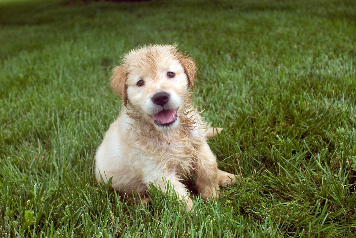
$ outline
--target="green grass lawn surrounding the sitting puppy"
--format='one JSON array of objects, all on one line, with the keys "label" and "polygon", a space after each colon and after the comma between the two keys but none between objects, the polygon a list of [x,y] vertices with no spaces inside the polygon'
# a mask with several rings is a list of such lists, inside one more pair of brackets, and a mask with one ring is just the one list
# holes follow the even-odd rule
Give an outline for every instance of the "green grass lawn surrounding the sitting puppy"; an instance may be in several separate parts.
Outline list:
[{"label": "green grass lawn surrounding the sitting puppy", "polygon": [[[0,5],[1,237],[342,237],[356,231],[356,2],[9,1]],[[96,183],[118,115],[111,68],[145,43],[197,62],[194,104],[240,175],[197,216]]]}]

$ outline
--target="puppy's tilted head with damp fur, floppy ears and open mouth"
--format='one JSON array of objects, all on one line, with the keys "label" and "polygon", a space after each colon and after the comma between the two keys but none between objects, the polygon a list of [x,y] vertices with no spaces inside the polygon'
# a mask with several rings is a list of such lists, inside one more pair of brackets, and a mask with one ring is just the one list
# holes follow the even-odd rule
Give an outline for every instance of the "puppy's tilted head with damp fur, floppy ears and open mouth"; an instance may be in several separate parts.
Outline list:
[{"label": "puppy's tilted head with damp fur, floppy ears and open mouth", "polygon": [[113,71],[111,86],[125,106],[159,131],[179,124],[197,74],[192,59],[175,46],[153,45],[130,51]]}]

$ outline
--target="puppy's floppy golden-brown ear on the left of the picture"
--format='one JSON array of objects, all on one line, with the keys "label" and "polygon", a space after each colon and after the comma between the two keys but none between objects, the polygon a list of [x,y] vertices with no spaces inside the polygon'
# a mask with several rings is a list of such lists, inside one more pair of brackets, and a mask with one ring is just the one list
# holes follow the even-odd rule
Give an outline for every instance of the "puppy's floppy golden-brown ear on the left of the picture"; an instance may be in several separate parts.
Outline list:
[{"label": "puppy's floppy golden-brown ear on the left of the picture", "polygon": [[126,80],[127,76],[129,73],[126,71],[126,68],[121,66],[116,66],[112,72],[114,74],[111,76],[111,88],[114,89],[116,94],[118,94],[121,98],[122,101],[124,102],[124,105],[127,105],[127,95],[126,95]]}]

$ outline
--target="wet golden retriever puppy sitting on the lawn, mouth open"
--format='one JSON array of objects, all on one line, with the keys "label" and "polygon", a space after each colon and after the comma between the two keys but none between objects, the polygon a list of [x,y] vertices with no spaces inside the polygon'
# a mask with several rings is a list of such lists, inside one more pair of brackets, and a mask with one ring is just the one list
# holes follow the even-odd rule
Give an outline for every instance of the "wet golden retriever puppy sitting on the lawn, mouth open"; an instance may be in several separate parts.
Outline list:
[{"label": "wet golden retriever puppy sitting on the lawn, mouth open", "polygon": [[[218,169],[206,142],[206,124],[191,106],[197,74],[192,59],[175,46],[145,46],[127,53],[113,72],[111,86],[125,107],[96,152],[98,181],[100,174],[105,183],[112,177],[121,195],[133,192],[142,198],[150,182],[166,191],[169,181],[188,210],[192,200],[182,179],[190,173],[204,200],[236,181]],[[216,131],[208,133],[212,137]]]}]

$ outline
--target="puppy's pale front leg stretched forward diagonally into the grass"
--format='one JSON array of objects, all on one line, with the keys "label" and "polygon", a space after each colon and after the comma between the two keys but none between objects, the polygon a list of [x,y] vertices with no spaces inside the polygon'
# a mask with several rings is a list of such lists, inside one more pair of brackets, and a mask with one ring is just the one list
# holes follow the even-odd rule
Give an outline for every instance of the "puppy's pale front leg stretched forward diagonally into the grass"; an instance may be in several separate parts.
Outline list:
[{"label": "puppy's pale front leg stretched forward diagonally into the grass", "polygon": [[167,182],[169,182],[172,189],[174,189],[176,196],[178,197],[178,200],[185,202],[188,211],[192,210],[193,202],[189,198],[188,190],[184,186],[184,184],[180,182],[176,174],[163,174],[163,173],[161,174],[156,172],[154,174],[147,174],[145,176],[145,179],[147,182],[151,182],[156,187],[159,187],[162,190],[162,192],[167,191]]}]

